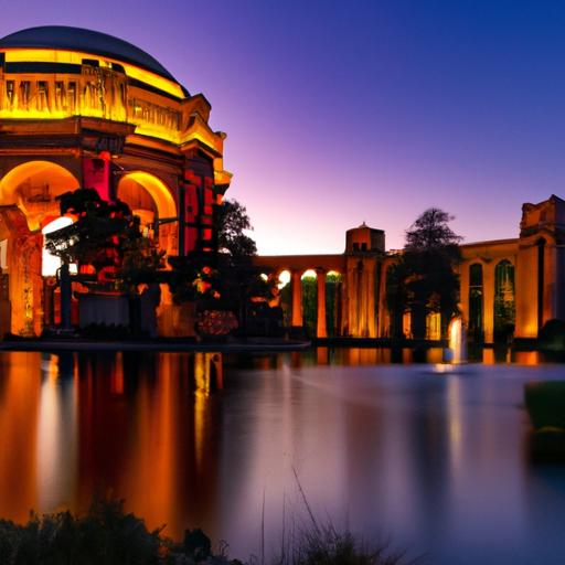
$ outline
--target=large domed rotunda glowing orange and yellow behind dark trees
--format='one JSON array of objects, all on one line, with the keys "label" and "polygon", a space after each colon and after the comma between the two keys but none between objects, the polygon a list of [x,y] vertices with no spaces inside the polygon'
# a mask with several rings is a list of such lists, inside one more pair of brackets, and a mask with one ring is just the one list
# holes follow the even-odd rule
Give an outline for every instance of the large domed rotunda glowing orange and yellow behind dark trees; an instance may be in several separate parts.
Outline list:
[{"label": "large domed rotunda glowing orange and yellow behind dark trees", "polygon": [[[125,201],[168,256],[214,247],[214,205],[231,174],[210,110],[202,94],[110,35],[43,26],[0,40],[1,334],[39,334],[46,321],[42,231],[66,191]],[[163,334],[171,308],[163,289]]]}]

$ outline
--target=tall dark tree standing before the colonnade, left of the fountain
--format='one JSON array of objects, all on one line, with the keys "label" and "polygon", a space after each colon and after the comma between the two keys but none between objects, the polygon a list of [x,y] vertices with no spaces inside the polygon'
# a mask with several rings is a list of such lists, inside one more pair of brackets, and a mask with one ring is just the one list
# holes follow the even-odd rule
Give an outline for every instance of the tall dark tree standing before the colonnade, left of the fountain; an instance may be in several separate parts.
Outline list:
[{"label": "tall dark tree standing before the colonnade, left of the fountain", "polygon": [[387,301],[396,321],[396,337],[402,331],[398,319],[403,311],[412,316],[415,339],[426,337],[426,316],[441,315],[441,334],[458,313],[459,277],[455,266],[460,260],[458,236],[448,225],[447,212],[426,210],[406,231],[406,244],[396,265],[391,267]]}]

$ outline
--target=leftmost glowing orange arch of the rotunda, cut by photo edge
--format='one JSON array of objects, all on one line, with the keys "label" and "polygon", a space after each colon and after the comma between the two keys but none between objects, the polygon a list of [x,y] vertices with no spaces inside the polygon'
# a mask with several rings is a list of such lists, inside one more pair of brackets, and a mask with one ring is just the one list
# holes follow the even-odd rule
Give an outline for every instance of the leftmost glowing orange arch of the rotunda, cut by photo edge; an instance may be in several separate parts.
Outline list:
[{"label": "leftmost glowing orange arch of the rotunda, cut by photo edge", "polygon": [[76,177],[53,161],[28,161],[12,168],[0,180],[0,205],[17,205],[31,231],[46,216],[58,216],[55,196],[79,188]]}]

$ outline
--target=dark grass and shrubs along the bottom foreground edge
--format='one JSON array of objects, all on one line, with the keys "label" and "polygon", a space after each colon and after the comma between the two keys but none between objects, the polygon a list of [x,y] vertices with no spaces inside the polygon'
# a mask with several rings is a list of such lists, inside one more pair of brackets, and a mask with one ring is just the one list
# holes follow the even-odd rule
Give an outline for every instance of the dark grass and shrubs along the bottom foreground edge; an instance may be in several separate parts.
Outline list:
[{"label": "dark grass and shrubs along the bottom foreground edge", "polygon": [[[188,530],[182,542],[149,531],[124,501],[95,501],[82,516],[71,512],[32,514],[24,525],[0,520],[2,565],[242,565],[224,552],[214,554],[201,530]],[[302,531],[285,541],[273,565],[408,565],[388,544],[366,548],[333,526]]]}]

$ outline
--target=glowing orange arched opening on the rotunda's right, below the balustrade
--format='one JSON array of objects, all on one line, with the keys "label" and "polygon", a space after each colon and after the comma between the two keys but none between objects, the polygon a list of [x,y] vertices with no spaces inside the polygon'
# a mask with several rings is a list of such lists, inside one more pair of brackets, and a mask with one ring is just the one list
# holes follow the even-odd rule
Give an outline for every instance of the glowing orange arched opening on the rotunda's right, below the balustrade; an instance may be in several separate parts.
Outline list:
[{"label": "glowing orange arched opening on the rotunda's right, below the balustrade", "polygon": [[147,236],[156,237],[168,255],[177,254],[177,204],[163,181],[148,172],[128,172],[121,177],[116,195],[139,216]]}]

